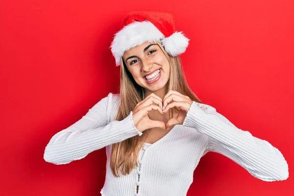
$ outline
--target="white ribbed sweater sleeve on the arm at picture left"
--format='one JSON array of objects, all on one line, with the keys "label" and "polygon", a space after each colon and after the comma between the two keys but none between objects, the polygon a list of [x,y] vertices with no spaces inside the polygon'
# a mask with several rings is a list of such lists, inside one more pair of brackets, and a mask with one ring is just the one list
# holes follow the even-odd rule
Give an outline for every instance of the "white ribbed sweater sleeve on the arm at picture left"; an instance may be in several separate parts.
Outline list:
[{"label": "white ribbed sweater sleeve on the arm at picture left", "polygon": [[45,148],[44,160],[56,165],[67,164],[94,150],[141,136],[143,133],[134,125],[132,111],[122,121],[107,123],[107,104],[111,95],[102,98],[79,121],[53,135]]}]

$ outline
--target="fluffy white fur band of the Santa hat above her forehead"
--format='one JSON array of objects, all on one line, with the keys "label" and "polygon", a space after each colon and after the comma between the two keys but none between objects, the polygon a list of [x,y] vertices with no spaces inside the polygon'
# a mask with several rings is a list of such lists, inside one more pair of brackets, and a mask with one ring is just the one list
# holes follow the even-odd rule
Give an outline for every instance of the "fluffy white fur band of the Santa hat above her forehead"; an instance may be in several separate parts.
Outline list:
[{"label": "fluffy white fur band of the Santa hat above her forehead", "polygon": [[164,37],[163,33],[149,21],[135,21],[124,26],[115,34],[110,46],[116,66],[121,65],[121,57],[125,51],[145,42],[160,41]]}]

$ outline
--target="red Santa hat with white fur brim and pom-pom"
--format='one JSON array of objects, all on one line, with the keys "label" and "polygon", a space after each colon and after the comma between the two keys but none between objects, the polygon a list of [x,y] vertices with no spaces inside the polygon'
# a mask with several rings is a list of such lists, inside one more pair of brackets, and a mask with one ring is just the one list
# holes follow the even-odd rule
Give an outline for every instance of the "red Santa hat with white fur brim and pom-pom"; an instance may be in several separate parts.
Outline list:
[{"label": "red Santa hat with white fur brim and pom-pom", "polygon": [[128,49],[155,41],[161,42],[171,56],[183,53],[189,44],[189,39],[182,31],[175,31],[171,14],[151,11],[128,13],[123,19],[121,30],[115,34],[110,46],[116,66],[121,65],[121,57]]}]

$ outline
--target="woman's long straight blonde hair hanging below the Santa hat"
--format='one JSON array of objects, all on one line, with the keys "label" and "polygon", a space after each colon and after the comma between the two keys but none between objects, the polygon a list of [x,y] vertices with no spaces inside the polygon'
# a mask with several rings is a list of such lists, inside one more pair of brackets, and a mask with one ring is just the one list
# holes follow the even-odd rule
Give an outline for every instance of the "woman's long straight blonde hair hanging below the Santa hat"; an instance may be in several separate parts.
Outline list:
[{"label": "woman's long straight blonde hair hanging below the Santa hat", "polygon": [[[167,83],[168,91],[177,91],[182,95],[188,96],[191,100],[202,103],[187,83],[182,70],[180,57],[170,56],[160,42],[156,42],[156,44],[162,49],[170,63],[170,77]],[[120,106],[115,120],[122,121],[130,114],[130,111],[133,111],[135,106],[145,98],[145,88],[136,83],[123,62],[123,58],[121,58]],[[169,110],[170,119],[172,118],[174,111],[178,112],[179,109],[173,107]],[[147,135],[144,134],[144,132],[145,131],[143,131],[141,136],[137,135],[122,142],[112,144],[110,168],[114,176],[120,177],[120,172],[123,175],[129,174],[136,166],[138,166],[138,155],[147,139]]]}]

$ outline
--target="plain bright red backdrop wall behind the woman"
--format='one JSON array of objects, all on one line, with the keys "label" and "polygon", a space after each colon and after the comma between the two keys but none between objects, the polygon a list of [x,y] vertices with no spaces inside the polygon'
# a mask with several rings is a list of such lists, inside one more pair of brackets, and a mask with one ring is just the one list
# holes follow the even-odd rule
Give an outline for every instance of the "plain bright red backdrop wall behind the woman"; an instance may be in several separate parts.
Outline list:
[{"label": "plain bright red backdrop wall behind the woman", "polygon": [[134,10],[172,13],[191,39],[182,60],[196,95],[289,164],[286,181],[265,182],[208,153],[188,196],[294,195],[292,0],[1,0],[0,194],[99,195],[105,148],[66,165],[45,162],[43,153],[55,133],[118,92],[109,46]]}]

